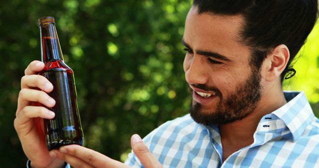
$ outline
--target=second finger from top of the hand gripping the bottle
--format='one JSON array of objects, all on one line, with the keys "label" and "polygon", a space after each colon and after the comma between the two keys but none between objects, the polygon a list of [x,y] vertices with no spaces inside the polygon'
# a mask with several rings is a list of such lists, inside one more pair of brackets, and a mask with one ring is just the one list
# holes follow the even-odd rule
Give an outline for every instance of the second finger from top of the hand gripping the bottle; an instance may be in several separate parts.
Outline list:
[{"label": "second finger from top of the hand gripping the bottle", "polygon": [[41,75],[26,75],[21,78],[21,88],[30,87],[38,87],[46,92],[53,90],[53,85]]}]

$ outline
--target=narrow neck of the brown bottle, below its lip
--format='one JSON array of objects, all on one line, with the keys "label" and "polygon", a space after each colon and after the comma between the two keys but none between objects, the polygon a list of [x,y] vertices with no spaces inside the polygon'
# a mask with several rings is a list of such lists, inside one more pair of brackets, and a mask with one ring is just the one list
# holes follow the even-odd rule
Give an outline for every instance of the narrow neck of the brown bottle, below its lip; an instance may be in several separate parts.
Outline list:
[{"label": "narrow neck of the brown bottle, below its lip", "polygon": [[63,61],[63,55],[54,22],[40,24],[40,37],[42,62]]}]

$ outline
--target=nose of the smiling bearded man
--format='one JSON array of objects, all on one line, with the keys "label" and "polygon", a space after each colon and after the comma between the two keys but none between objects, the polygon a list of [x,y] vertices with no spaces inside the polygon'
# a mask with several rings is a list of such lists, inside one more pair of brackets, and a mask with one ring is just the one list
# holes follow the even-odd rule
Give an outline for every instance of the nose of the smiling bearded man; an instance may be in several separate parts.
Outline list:
[{"label": "nose of the smiling bearded man", "polygon": [[185,79],[188,84],[206,84],[208,82],[209,68],[205,66],[206,59],[202,57],[194,55],[191,59],[184,60]]}]

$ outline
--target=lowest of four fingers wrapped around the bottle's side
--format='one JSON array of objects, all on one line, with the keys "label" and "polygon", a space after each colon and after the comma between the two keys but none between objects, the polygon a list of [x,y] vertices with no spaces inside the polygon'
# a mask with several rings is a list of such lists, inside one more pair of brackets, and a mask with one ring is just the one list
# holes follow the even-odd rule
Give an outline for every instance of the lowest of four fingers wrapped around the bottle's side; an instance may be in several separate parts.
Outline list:
[{"label": "lowest of four fingers wrapped around the bottle's side", "polygon": [[16,116],[15,124],[23,125],[30,118],[40,117],[46,119],[54,118],[55,113],[42,106],[25,106]]}]

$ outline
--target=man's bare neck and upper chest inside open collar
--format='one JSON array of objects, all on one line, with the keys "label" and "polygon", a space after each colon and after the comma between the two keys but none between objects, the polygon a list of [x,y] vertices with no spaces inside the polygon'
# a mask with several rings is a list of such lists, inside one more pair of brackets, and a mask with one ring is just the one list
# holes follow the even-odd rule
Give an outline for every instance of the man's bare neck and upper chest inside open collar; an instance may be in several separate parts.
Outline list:
[{"label": "man's bare neck and upper chest inside open collar", "polygon": [[[223,149],[232,149],[233,151],[230,153],[232,154],[252,144],[254,142],[253,135],[261,118],[286,103],[281,84],[269,84],[269,86],[266,86],[263,89],[262,97],[257,107],[251,114],[242,120],[219,125]],[[225,159],[223,157],[223,160]]]}]

